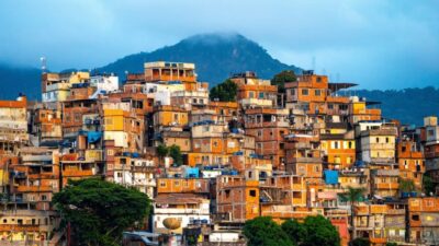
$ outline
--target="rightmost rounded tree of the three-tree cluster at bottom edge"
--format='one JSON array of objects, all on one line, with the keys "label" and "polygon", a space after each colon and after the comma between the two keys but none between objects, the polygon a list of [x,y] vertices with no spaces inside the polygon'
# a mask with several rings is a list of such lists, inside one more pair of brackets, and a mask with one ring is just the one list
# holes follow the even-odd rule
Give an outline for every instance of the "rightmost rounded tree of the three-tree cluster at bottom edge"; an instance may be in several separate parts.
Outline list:
[{"label": "rightmost rounded tree of the three-tree cluster at bottom edge", "polygon": [[304,246],[340,246],[340,235],[336,226],[322,215],[307,216],[303,223],[306,236],[302,242]]}]

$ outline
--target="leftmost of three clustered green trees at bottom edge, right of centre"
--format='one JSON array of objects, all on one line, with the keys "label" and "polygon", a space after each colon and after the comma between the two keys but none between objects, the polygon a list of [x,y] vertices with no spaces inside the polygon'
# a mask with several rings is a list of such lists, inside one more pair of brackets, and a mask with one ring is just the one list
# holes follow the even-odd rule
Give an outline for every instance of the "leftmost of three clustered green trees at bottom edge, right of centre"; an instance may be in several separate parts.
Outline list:
[{"label": "leftmost of three clustered green trees at bottom edge, right of centre", "polygon": [[270,216],[258,216],[244,225],[248,246],[292,246],[285,232]]}]

